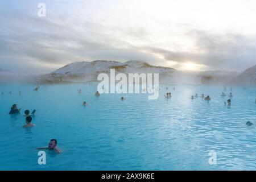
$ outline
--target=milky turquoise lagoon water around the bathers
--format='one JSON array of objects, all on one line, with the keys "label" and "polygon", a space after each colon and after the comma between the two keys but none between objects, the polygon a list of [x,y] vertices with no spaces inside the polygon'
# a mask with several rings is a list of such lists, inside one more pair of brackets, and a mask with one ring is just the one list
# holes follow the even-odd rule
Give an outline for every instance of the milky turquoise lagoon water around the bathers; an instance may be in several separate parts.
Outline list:
[{"label": "milky turquoise lagoon water around the bathers", "polygon": [[[175,85],[168,100],[166,85],[160,86],[158,100],[147,94],[96,98],[95,83],[40,85],[38,92],[35,86],[0,85],[1,170],[256,169],[255,87],[233,87],[229,107],[221,86]],[[212,100],[192,101],[196,93]],[[21,114],[8,114],[13,104],[22,107]],[[22,128],[26,109],[36,109],[32,129]],[[246,126],[247,121],[254,125]],[[39,165],[36,147],[52,138],[62,153],[46,151],[47,164]],[[209,164],[210,151],[216,152],[216,164]]]}]

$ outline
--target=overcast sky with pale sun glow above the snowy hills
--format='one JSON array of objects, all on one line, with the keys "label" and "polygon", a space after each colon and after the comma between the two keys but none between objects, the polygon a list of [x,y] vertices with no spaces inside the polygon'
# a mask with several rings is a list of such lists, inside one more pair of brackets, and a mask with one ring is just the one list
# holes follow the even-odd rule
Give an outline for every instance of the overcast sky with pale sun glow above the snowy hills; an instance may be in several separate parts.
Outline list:
[{"label": "overcast sky with pale sun glow above the snowy hills", "polygon": [[255,20],[255,0],[5,0],[0,68],[48,73],[74,61],[144,60],[243,71],[256,64]]}]

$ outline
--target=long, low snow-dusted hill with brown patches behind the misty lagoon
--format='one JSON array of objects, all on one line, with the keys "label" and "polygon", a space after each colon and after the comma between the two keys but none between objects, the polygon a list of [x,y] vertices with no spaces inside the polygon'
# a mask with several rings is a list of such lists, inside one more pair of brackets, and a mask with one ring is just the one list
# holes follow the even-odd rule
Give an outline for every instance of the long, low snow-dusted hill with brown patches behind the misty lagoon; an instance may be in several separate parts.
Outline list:
[{"label": "long, low snow-dusted hill with brown patches behind the misty lagoon", "polygon": [[110,73],[110,69],[115,69],[116,73],[173,73],[176,69],[166,67],[156,67],[144,61],[126,61],[119,63],[117,61],[96,60],[92,62],[75,62],[57,69],[47,75],[39,77],[42,81],[49,82],[84,82],[97,81],[100,73]]}]

